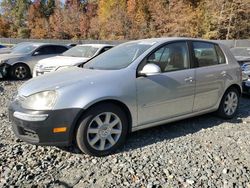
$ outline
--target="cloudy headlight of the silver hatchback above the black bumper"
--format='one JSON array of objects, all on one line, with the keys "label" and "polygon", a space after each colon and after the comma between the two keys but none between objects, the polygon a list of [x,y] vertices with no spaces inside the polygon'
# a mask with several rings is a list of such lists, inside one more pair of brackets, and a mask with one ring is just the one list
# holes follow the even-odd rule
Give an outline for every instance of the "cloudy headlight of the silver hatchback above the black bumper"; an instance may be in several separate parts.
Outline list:
[{"label": "cloudy headlight of the silver hatchback above the black bumper", "polygon": [[25,109],[31,110],[51,110],[56,103],[57,93],[55,91],[43,91],[28,96],[21,101]]}]

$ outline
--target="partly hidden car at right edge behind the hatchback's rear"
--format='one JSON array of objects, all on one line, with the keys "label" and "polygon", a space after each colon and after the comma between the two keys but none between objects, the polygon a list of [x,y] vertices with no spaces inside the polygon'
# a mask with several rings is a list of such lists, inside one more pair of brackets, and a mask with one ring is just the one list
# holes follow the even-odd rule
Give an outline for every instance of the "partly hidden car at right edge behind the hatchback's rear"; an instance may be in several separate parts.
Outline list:
[{"label": "partly hidden car at right edge behind the hatchback's rear", "polygon": [[242,69],[242,88],[244,93],[250,93],[250,47],[230,49]]}]

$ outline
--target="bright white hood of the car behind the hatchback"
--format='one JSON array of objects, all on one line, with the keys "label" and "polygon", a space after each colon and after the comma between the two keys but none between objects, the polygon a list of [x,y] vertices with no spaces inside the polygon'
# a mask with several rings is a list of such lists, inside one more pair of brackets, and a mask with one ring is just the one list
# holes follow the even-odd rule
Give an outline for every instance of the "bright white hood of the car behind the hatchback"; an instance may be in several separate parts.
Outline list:
[{"label": "bright white hood of the car behind the hatchback", "polygon": [[51,58],[42,59],[38,62],[38,64],[43,65],[43,67],[48,67],[48,66],[60,67],[60,66],[69,66],[69,65],[74,66],[74,65],[78,65],[80,63],[84,63],[87,60],[89,60],[89,58],[55,56],[55,57],[51,57]]}]

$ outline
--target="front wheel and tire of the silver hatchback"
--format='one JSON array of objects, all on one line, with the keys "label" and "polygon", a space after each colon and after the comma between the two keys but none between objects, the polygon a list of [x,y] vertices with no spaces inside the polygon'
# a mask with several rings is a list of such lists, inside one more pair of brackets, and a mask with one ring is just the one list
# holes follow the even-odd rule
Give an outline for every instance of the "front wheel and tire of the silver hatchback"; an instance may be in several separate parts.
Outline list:
[{"label": "front wheel and tire of the silver hatchback", "polygon": [[76,143],[86,154],[106,156],[125,142],[127,133],[125,113],[114,104],[104,103],[94,106],[80,118]]}]

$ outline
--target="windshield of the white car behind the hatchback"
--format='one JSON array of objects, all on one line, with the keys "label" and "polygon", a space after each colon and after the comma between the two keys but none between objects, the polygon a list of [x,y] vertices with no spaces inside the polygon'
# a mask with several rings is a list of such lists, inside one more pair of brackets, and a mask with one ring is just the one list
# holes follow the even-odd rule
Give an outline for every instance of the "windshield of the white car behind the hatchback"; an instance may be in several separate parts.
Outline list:
[{"label": "windshield of the white car behind the hatchback", "polygon": [[91,58],[95,55],[98,48],[93,46],[75,46],[66,52],[64,52],[63,56],[71,56],[71,57],[86,57]]}]

